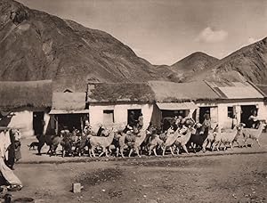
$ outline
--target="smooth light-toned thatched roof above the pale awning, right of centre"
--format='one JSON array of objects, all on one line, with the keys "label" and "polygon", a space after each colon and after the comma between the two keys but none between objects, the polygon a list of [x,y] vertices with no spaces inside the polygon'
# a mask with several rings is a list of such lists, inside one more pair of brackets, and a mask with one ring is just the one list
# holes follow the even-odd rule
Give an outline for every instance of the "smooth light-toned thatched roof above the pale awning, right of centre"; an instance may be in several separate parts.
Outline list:
[{"label": "smooth light-toned thatched roof above the pale awning, right of centre", "polygon": [[205,82],[173,83],[150,81],[156,102],[192,102],[217,100],[219,96]]}]

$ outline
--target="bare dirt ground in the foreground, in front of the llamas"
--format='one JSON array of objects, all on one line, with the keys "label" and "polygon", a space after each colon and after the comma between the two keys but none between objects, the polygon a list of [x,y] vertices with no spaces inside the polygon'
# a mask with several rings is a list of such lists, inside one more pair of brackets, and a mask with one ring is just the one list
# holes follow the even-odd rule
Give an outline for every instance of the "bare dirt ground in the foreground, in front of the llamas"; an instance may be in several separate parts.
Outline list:
[{"label": "bare dirt ground in the foreground, in front of the llamas", "polygon": [[[266,202],[267,155],[20,164],[14,198],[36,202]],[[82,183],[79,194],[71,183]]]}]

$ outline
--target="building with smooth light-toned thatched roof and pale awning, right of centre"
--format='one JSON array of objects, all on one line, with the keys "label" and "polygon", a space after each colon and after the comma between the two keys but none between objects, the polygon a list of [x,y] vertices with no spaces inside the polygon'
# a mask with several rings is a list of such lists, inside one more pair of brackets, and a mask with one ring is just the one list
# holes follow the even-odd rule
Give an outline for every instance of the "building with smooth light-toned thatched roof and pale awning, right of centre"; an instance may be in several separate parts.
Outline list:
[{"label": "building with smooth light-toned thatched roof and pale awning, right of centre", "polygon": [[[199,106],[207,107],[220,97],[217,93],[206,85],[204,81],[190,83],[173,83],[166,81],[150,81],[153,92],[155,93],[154,115],[158,118],[155,124],[160,124],[162,118],[174,117],[191,117],[200,121],[206,110],[199,110]],[[199,105],[201,103],[201,105]],[[217,114],[211,108],[211,120],[217,122]]]}]

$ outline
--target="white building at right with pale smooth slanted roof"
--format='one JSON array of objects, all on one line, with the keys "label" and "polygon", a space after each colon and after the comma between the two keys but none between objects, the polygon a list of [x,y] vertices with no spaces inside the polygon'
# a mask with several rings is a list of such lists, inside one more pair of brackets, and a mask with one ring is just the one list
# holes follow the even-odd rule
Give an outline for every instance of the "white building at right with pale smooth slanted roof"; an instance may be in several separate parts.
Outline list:
[{"label": "white building at right with pale smooth slanted roof", "polygon": [[[214,93],[217,93],[220,100],[212,103],[216,107],[217,122],[224,128],[231,128],[233,118],[236,117],[238,123],[248,125],[248,118],[253,111],[257,111],[257,116],[261,120],[266,120],[266,108],[264,107],[264,94],[254,84],[250,82],[207,82]],[[201,108],[204,106],[198,103]]]}]

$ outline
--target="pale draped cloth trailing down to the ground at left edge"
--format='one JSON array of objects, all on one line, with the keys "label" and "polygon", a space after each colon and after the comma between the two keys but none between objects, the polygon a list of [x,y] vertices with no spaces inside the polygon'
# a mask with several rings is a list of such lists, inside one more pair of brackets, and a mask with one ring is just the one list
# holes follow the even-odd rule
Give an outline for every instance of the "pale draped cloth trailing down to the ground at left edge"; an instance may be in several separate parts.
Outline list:
[{"label": "pale draped cloth trailing down to the ground at left edge", "polygon": [[4,155],[10,145],[10,143],[7,142],[6,136],[6,132],[0,130],[0,172],[3,175],[6,183],[9,184],[8,190],[19,191],[22,188],[20,179],[16,175],[14,175],[12,169],[10,169],[4,163]]}]

